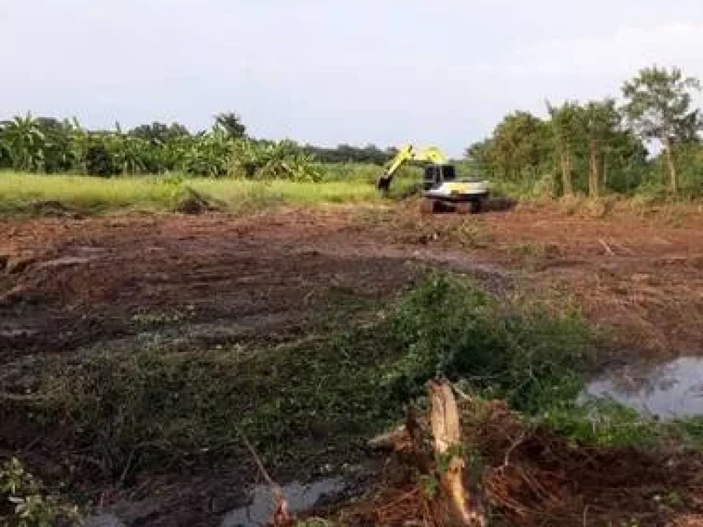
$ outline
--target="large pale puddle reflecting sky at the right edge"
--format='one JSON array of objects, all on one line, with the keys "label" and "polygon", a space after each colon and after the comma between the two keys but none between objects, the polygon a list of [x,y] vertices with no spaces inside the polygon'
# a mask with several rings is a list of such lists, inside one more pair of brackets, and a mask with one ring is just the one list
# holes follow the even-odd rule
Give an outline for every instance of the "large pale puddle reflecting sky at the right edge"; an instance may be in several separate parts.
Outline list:
[{"label": "large pale puddle reflecting sky at the right edge", "polygon": [[664,420],[703,415],[703,358],[619,368],[588,384],[587,391]]}]

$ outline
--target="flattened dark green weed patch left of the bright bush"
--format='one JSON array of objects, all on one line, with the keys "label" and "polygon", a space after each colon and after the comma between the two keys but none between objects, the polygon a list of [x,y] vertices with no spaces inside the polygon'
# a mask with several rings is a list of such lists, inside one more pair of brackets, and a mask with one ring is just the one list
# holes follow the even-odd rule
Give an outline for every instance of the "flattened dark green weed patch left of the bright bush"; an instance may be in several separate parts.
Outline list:
[{"label": "flattened dark green weed patch left of the bright bush", "polygon": [[269,348],[147,346],[59,360],[7,410],[26,429],[51,430],[71,471],[94,479],[246,457],[240,432],[271,467],[314,465],[332,438],[344,455],[390,419],[379,372],[397,349],[384,334],[374,326]]}]

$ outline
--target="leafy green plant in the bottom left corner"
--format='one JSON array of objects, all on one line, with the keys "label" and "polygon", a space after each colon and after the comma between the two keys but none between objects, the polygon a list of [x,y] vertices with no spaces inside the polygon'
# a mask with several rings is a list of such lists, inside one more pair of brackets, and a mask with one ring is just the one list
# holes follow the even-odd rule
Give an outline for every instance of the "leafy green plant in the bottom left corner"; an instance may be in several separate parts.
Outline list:
[{"label": "leafy green plant in the bottom left corner", "polygon": [[0,523],[7,527],[78,525],[77,507],[65,505],[13,457],[0,464]]}]

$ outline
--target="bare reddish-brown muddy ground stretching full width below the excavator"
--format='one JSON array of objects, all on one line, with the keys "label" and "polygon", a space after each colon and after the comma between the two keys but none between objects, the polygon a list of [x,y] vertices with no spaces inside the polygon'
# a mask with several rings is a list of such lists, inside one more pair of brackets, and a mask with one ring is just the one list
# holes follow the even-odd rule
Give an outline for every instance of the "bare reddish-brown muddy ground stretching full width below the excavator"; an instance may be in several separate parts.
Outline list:
[{"label": "bare reddish-brown muddy ground stretching full width below the excavator", "polygon": [[[349,306],[391,299],[423,265],[470,273],[501,294],[520,283],[573,295],[610,332],[615,361],[703,354],[702,229],[699,214],[593,218],[556,207],[6,219],[1,391],[19,393],[42,357],[138,346],[145,334],[187,346],[299,338],[330,318],[344,323]],[[10,428],[5,453],[37,434]],[[212,495],[232,492],[251,469],[234,479],[199,473],[193,485],[166,478],[173,501],[132,515],[141,525],[217,524],[225,506]]]}]

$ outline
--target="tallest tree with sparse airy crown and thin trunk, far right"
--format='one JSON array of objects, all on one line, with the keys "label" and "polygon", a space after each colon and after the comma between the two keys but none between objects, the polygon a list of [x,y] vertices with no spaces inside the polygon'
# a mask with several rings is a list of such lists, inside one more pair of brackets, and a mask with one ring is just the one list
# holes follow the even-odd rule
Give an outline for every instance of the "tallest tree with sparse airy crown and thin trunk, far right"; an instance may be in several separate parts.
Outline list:
[{"label": "tallest tree with sparse airy crown and thin trunk, far right", "polygon": [[699,110],[692,108],[692,92],[700,89],[700,82],[684,77],[678,67],[668,70],[656,65],[640,70],[622,86],[623,111],[633,129],[664,146],[672,193],[678,193],[679,187],[674,148],[703,128]]}]

